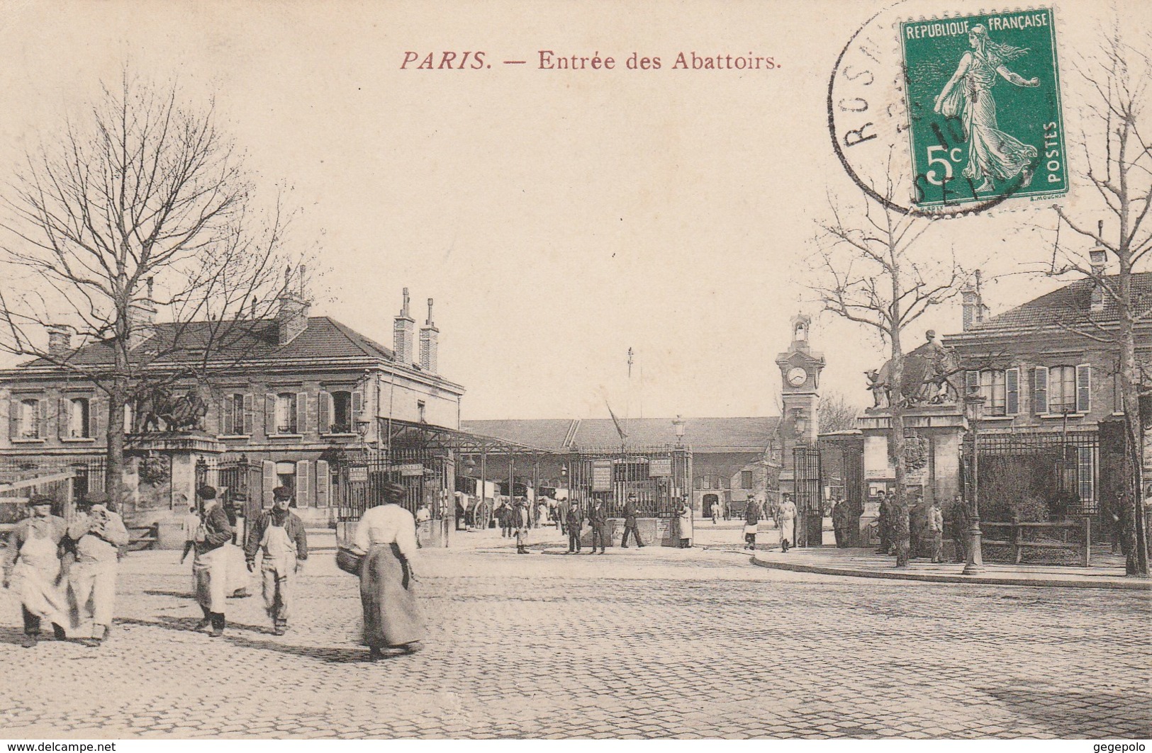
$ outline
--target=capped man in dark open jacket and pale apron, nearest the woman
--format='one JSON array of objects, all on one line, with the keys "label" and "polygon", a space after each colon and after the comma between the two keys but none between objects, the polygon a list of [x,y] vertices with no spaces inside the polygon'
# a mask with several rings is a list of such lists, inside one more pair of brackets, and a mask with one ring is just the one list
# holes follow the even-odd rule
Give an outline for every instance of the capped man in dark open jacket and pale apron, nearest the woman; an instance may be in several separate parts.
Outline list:
[{"label": "capped man in dark open jacket and pale apron, nearest the woman", "polygon": [[293,581],[308,560],[308,534],[304,522],[288,510],[291,489],[272,489],[272,509],[260,514],[248,531],[244,560],[248,571],[256,569],[256,553],[263,553],[260,577],[264,583],[264,607],[272,618],[272,632],[283,636],[288,630]]}]

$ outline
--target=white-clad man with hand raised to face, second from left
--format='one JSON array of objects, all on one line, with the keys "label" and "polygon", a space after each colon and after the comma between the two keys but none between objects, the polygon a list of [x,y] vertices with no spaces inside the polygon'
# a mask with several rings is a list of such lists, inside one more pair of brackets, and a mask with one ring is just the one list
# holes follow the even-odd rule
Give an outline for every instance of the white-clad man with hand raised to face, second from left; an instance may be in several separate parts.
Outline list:
[{"label": "white-clad man with hand raised to face, second from left", "polygon": [[79,512],[68,524],[68,538],[76,542],[76,562],[68,571],[68,594],[73,626],[90,625],[88,646],[99,646],[108,637],[116,599],[119,548],[128,543],[128,528],[108,510],[108,495],[94,492],[77,504]]}]

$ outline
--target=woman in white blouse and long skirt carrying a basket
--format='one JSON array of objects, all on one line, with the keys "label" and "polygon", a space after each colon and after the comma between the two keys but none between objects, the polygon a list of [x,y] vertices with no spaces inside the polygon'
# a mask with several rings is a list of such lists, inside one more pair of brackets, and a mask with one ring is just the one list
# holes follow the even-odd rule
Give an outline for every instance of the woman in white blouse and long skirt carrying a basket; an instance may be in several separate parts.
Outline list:
[{"label": "woman in white blouse and long skirt carrying a basket", "polygon": [[400,507],[404,487],[385,485],[385,504],[365,510],[356,526],[355,548],[364,555],[361,565],[361,604],[364,608],[364,642],[379,659],[387,648],[415,653],[422,648],[424,625],[416,604],[412,557],[416,555],[416,520]]}]

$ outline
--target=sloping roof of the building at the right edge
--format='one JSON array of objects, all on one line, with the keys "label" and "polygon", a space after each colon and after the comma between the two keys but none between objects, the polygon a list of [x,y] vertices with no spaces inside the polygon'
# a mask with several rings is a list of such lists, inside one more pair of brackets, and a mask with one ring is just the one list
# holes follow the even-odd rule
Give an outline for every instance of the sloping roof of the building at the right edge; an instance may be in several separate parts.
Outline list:
[{"label": "sloping roof of the building at the right edge", "polygon": [[[1109,275],[1106,280],[1113,286],[1119,286],[1119,275]],[[1049,326],[1067,327],[1091,322],[1107,325],[1117,321],[1119,307],[1108,294],[1104,297],[1104,311],[1092,312],[1092,280],[1086,277],[1076,280],[1063,288],[985,319],[963,334],[995,333],[1000,329],[1043,329]],[[1152,307],[1152,272],[1132,275],[1132,295],[1138,311]]]}]

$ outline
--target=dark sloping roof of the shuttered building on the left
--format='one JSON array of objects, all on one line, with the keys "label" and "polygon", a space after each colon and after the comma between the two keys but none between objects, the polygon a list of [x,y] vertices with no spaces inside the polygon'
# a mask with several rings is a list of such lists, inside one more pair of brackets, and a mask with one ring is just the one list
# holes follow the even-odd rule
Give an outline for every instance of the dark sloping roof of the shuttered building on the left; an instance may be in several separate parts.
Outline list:
[{"label": "dark sloping roof of the shuttered building on the left", "polygon": [[[132,352],[138,353],[143,359],[154,356],[160,350],[167,350],[173,344],[179,345],[172,356],[165,355],[156,358],[154,363],[165,360],[184,360],[189,356],[195,357],[197,350],[203,351],[205,343],[217,340],[219,347],[214,358],[219,360],[240,359],[278,359],[293,360],[306,358],[356,358],[369,357],[382,360],[394,360],[395,355],[388,348],[365,337],[355,329],[351,329],[329,317],[309,317],[308,327],[291,342],[280,345],[276,333],[275,320],[265,319],[248,324],[242,328],[223,330],[221,333],[220,322],[196,321],[182,325],[172,322],[159,322],[156,325],[156,334],[152,339],[143,342]],[[215,328],[213,330],[213,328]],[[214,335],[213,332],[217,334]],[[181,358],[181,353],[183,357]],[[90,343],[82,347],[71,357],[69,363],[77,366],[99,366],[112,364],[113,350],[105,342]],[[44,359],[35,359],[22,367],[48,366]]]}]

